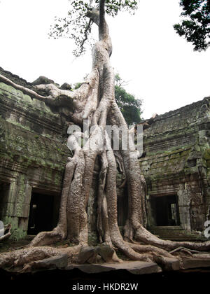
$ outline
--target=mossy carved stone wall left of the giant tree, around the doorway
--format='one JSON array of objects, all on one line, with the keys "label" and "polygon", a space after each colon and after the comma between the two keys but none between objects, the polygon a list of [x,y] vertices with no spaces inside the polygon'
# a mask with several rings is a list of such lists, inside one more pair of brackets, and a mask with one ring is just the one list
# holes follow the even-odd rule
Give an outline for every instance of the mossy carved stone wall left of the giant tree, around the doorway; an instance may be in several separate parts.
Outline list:
[{"label": "mossy carved stone wall left of the giant tree, around the doorway", "polygon": [[[18,76],[3,74],[31,87]],[[66,128],[43,102],[0,83],[0,219],[12,223],[13,239],[27,235],[31,192],[54,197],[56,225],[64,167],[71,156],[64,144]]]}]

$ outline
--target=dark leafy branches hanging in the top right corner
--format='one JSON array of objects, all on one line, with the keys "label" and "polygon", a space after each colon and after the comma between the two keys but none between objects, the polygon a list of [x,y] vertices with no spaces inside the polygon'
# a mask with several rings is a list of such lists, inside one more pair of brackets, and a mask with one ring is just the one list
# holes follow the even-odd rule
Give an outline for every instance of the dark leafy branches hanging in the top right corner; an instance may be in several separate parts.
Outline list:
[{"label": "dark leafy branches hanging in the top right corner", "polygon": [[210,1],[181,0],[181,24],[174,25],[179,36],[193,43],[195,51],[206,50],[210,44]]}]

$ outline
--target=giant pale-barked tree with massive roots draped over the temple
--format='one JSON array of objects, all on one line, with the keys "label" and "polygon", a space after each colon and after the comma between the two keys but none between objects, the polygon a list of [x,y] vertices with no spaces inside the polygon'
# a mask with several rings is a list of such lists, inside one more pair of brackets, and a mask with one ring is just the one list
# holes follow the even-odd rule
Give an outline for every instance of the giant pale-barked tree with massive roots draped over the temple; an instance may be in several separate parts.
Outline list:
[{"label": "giant pale-barked tree with massive roots draped over the temple", "polygon": [[[36,260],[50,256],[69,255],[69,262],[81,261],[80,256],[88,253],[83,262],[94,261],[94,250],[88,247],[87,231],[87,201],[90,195],[90,187],[96,159],[100,162],[100,172],[97,195],[97,231],[99,241],[104,242],[110,248],[113,260],[119,261],[114,248],[123,251],[132,260],[153,260],[161,265],[167,265],[168,259],[173,255],[169,251],[185,247],[188,253],[194,253],[195,249],[206,251],[210,248],[210,241],[204,243],[174,242],[155,237],[145,228],[145,188],[146,183],[139,169],[138,153],[134,144],[130,141],[127,150],[116,151],[111,148],[111,138],[106,132],[106,125],[121,127],[126,134],[134,130],[128,130],[115,100],[115,75],[110,63],[112,51],[109,27],[105,20],[107,13],[116,13],[121,6],[133,8],[134,1],[100,0],[99,6],[89,7],[83,1],[73,1],[73,8],[80,12],[77,6],[84,8],[87,27],[90,22],[98,26],[99,41],[92,49],[92,71],[87,76],[85,83],[77,90],[69,91],[57,88],[53,84],[38,85],[36,91],[30,90],[13,83],[8,78],[0,76],[1,81],[16,87],[31,98],[44,101],[50,106],[56,106],[60,112],[68,114],[76,125],[82,125],[83,120],[88,119],[92,132],[83,148],[78,144],[77,138],[82,135],[73,132],[69,136],[69,144],[73,146],[73,157],[66,164],[62,196],[59,209],[59,221],[52,232],[39,233],[29,244],[28,248],[18,251],[3,253],[0,255],[0,267],[23,267],[23,271],[34,266]],[[80,44],[80,45],[83,45]],[[42,90],[47,94],[41,95],[37,91]],[[104,134],[104,137],[102,136]],[[120,135],[119,135],[120,137]],[[122,139],[122,137],[117,138]],[[106,144],[108,148],[101,148]],[[90,148],[92,146],[92,148]],[[118,228],[116,173],[118,165],[123,173],[123,181],[127,181],[127,205],[128,216],[122,236]],[[68,248],[55,248],[43,246],[69,239]],[[140,242],[140,243],[138,243]],[[87,249],[87,250],[86,250]],[[86,251],[85,251],[86,250]],[[102,248],[97,248],[97,253],[102,256]],[[176,251],[178,252],[178,251]],[[90,253],[90,254],[89,254]],[[110,256],[109,256],[110,257]],[[78,258],[78,259],[77,259]],[[106,258],[105,258],[106,259]],[[179,257],[177,257],[179,260]]]}]

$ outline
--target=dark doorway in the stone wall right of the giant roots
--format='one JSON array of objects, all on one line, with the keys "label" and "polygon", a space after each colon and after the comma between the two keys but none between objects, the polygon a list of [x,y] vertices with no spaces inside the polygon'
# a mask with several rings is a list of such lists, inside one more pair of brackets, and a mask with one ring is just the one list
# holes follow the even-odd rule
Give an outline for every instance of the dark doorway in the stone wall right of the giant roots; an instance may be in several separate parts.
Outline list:
[{"label": "dark doorway in the stone wall right of the giant roots", "polygon": [[176,195],[152,197],[156,225],[180,225],[179,206]]}]

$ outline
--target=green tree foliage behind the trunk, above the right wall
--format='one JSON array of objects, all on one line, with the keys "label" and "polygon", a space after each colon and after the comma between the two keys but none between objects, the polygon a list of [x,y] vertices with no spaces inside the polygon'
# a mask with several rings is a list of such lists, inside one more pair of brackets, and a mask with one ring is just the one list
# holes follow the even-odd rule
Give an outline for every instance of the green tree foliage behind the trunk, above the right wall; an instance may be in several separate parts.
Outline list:
[{"label": "green tree foliage behind the trunk, above the right wall", "polygon": [[140,123],[142,101],[141,99],[136,99],[132,94],[127,93],[122,85],[125,85],[125,81],[117,73],[115,95],[120,111],[123,113],[127,125]]}]

